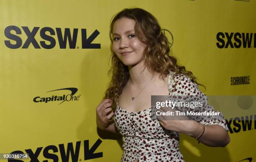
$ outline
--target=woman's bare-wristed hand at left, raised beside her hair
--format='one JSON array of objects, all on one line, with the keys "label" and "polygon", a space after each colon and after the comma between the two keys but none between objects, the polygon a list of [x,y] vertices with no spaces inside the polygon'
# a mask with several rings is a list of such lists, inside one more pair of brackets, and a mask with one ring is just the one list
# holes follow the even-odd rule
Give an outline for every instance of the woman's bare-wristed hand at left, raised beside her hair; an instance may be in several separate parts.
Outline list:
[{"label": "woman's bare-wristed hand at left, raised beside her hair", "polygon": [[[108,127],[110,119],[113,117],[114,112],[111,108],[113,101],[109,98],[102,100],[100,105],[96,108],[96,123],[97,127],[104,130]],[[110,113],[109,113],[110,112]]]}]

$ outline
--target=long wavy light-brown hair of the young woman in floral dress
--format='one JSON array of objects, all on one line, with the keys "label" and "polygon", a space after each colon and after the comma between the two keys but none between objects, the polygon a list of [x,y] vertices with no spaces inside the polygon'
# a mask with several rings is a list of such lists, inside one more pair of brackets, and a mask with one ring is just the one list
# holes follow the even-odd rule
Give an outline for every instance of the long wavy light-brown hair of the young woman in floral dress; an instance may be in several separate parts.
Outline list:
[{"label": "long wavy light-brown hair of the young woman in floral dress", "polygon": [[[143,59],[145,60],[144,68],[147,67],[150,72],[159,73],[163,79],[164,76],[172,72],[176,72],[172,77],[173,80],[175,76],[184,74],[187,75],[192,82],[205,87],[197,82],[196,77],[192,72],[187,71],[184,66],[177,65],[177,59],[174,56],[170,56],[170,45],[167,37],[162,32],[156,18],[146,10],[141,8],[125,8],[114,15],[110,23],[109,32],[111,46],[113,45],[113,25],[115,21],[121,17],[126,17],[136,22],[134,27],[135,34],[138,37],[138,40],[147,45],[143,55]],[[128,82],[130,74],[128,67],[120,61],[112,48],[110,59],[112,60],[112,65],[108,71],[108,75],[111,74],[112,78],[108,83],[108,88],[105,91],[103,99],[112,99],[112,108],[115,110],[117,97],[121,94],[123,87]]]}]

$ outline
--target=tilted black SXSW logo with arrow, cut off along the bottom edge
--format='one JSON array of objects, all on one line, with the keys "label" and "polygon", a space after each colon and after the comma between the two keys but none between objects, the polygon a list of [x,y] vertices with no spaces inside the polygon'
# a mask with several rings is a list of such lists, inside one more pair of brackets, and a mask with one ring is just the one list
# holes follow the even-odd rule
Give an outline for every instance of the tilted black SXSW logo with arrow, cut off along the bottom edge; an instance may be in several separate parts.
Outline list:
[{"label": "tilted black SXSW logo with arrow, cut off along the bottom edge", "polygon": [[[59,145],[49,145],[46,147],[38,147],[26,149],[25,153],[31,159],[30,162],[39,162],[39,157],[44,157],[45,160],[40,160],[40,162],[69,162],[70,158],[72,162],[81,162],[82,160],[91,160],[103,157],[103,152],[96,152],[97,148],[102,143],[102,140],[98,139],[92,147],[89,147],[89,140],[77,141],[75,143],[69,142],[67,144],[59,144]],[[80,152],[84,152],[84,156],[79,155]],[[25,154],[22,150],[16,150],[11,152],[10,154]],[[56,155],[59,153],[60,155]],[[39,156],[40,155],[40,156]],[[8,158],[8,162],[28,162],[28,160],[15,160],[13,158]]]}]

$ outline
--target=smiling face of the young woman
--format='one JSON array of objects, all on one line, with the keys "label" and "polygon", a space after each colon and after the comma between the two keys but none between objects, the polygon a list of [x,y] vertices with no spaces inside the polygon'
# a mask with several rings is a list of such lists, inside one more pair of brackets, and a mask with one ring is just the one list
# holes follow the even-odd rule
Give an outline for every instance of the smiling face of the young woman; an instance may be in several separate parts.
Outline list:
[{"label": "smiling face of the young woman", "polygon": [[138,40],[134,31],[135,21],[122,17],[113,25],[113,51],[126,66],[143,61],[146,44]]}]

